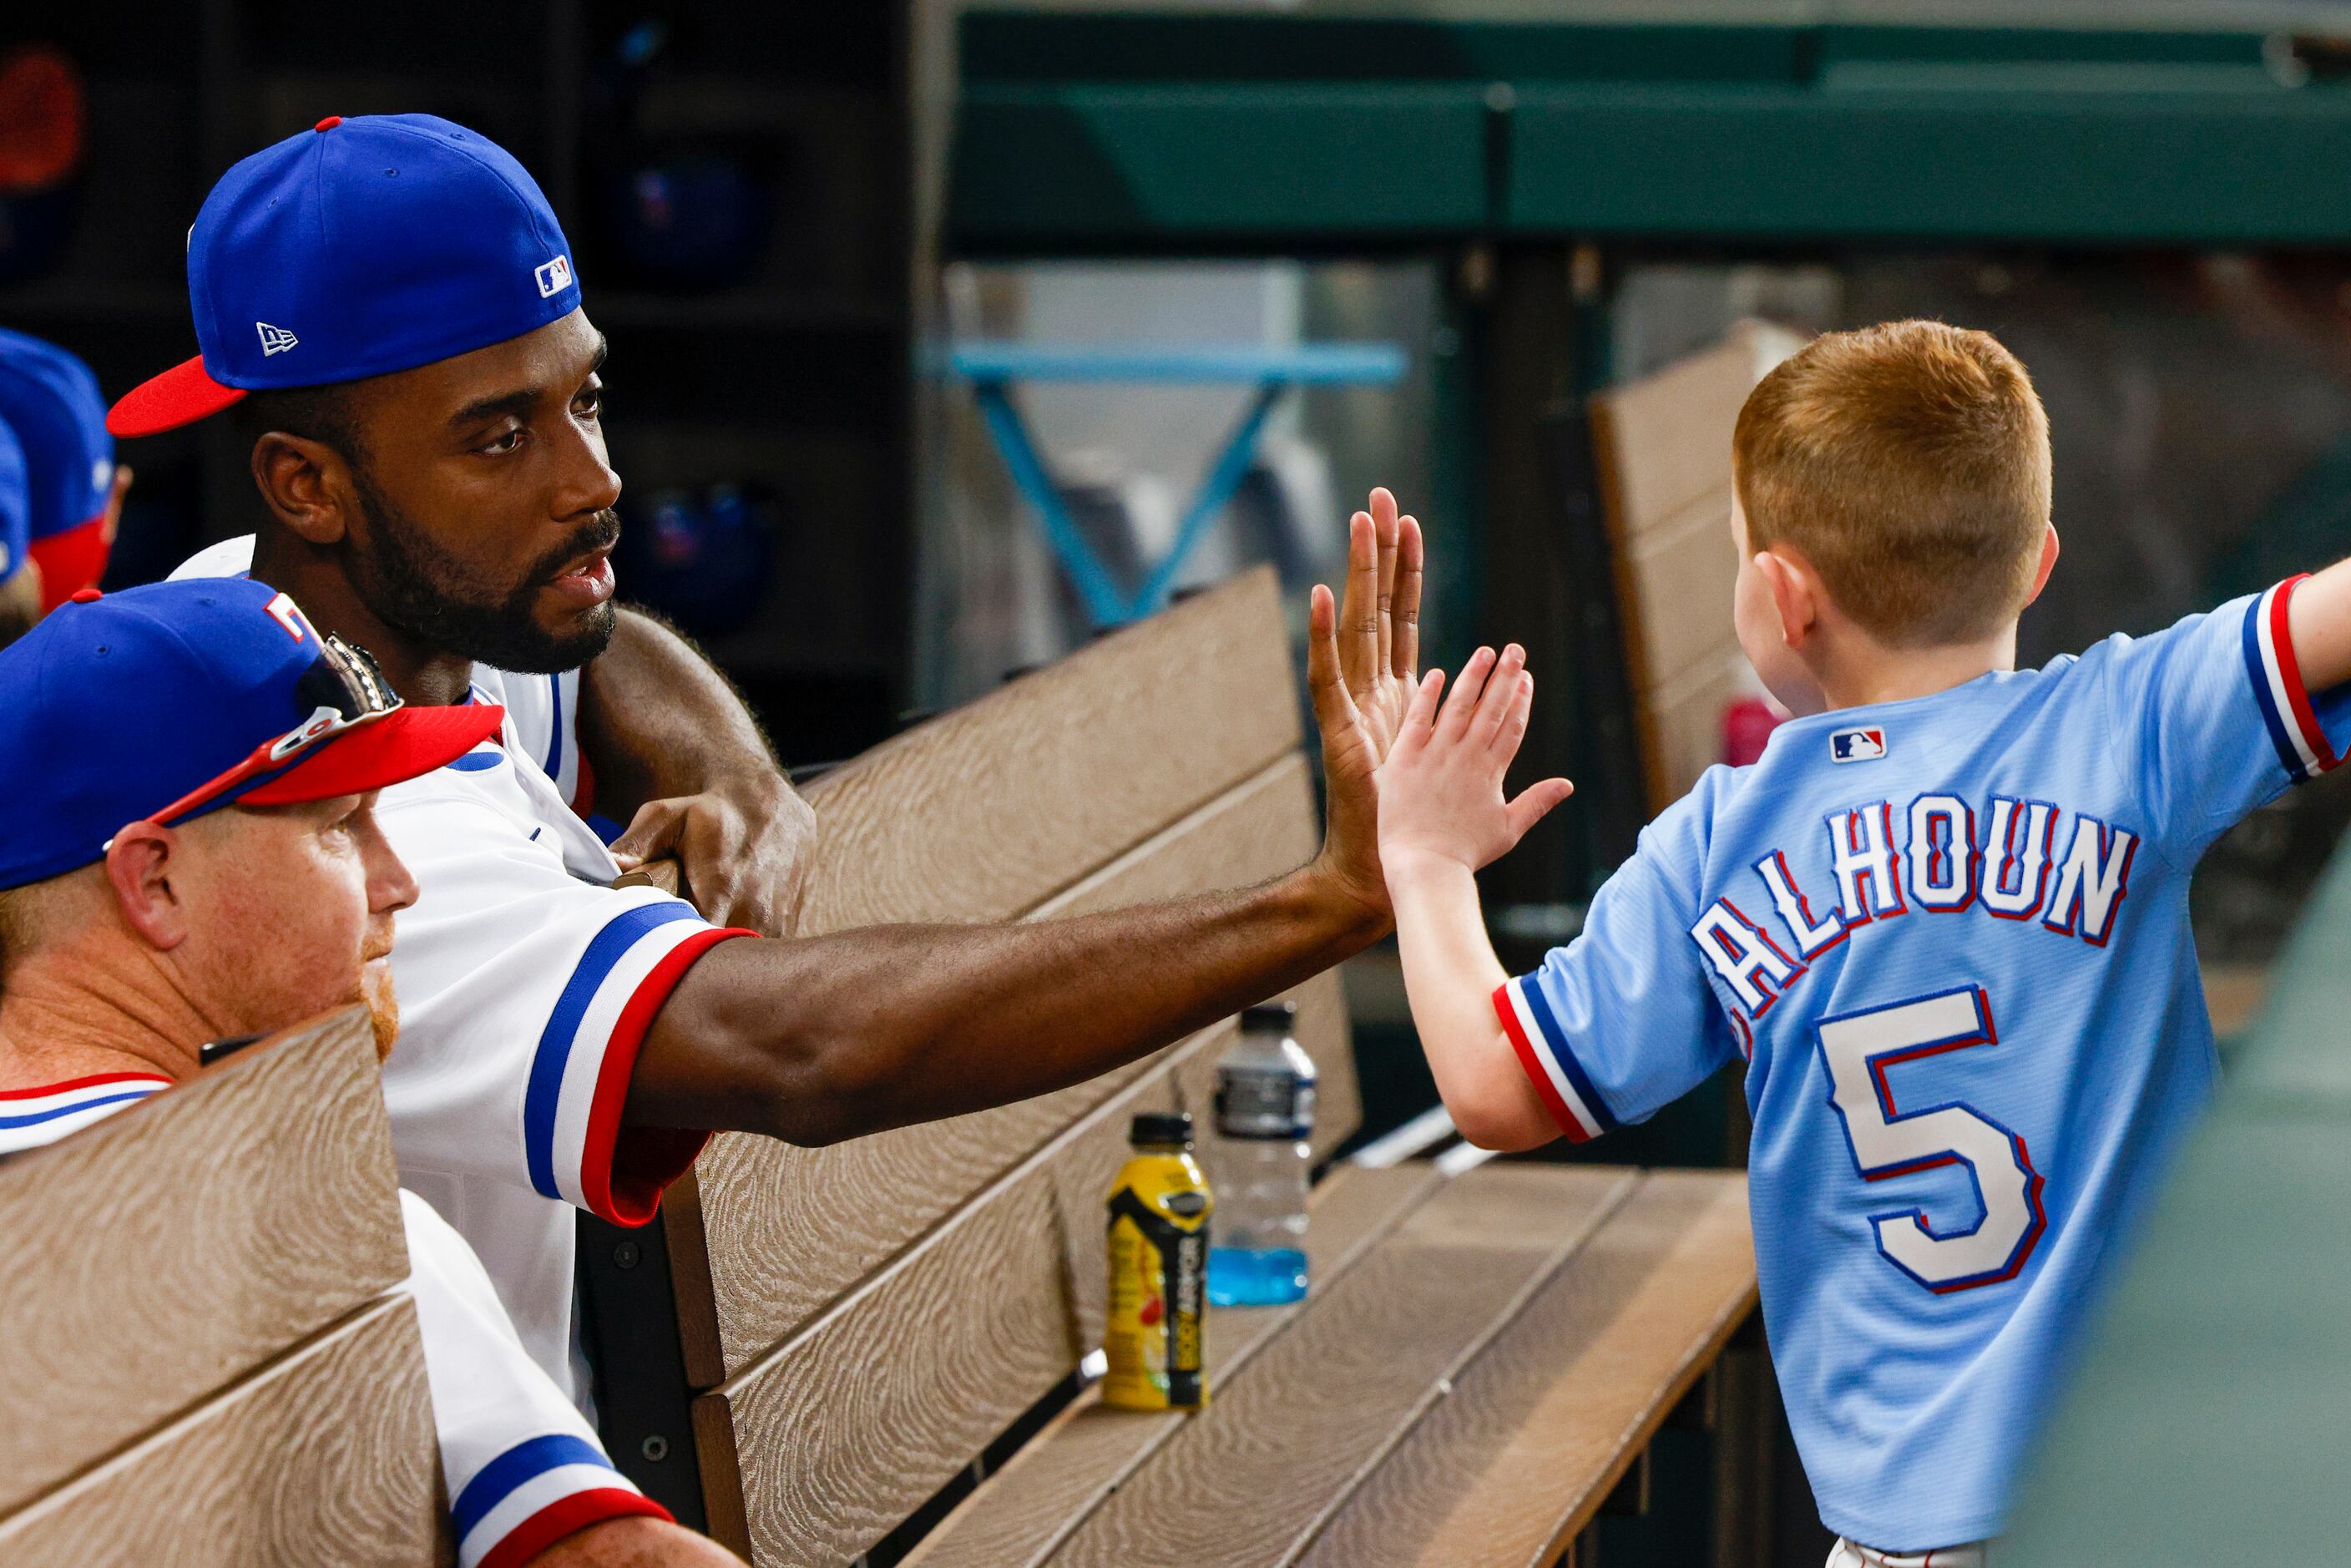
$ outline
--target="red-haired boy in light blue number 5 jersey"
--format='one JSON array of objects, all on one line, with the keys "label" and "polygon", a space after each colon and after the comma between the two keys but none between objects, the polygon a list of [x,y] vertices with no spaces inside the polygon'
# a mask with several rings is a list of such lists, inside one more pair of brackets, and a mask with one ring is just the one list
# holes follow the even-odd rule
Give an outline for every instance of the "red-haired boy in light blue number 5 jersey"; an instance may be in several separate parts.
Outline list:
[{"label": "red-haired boy in light blue number 5 jersey", "polygon": [[1404,978],[1486,1147],[1594,1138],[1744,1058],[1763,1319],[1831,1563],[1958,1568],[2212,1088],[2189,872],[2351,741],[2351,564],[2017,672],[2057,564],[2048,416],[1937,322],[1813,341],[1733,456],[1740,646],[1796,717],[1507,978],[1469,870],[1566,785],[1502,802],[1516,649],[1441,712],[1425,682],[1380,769]]}]

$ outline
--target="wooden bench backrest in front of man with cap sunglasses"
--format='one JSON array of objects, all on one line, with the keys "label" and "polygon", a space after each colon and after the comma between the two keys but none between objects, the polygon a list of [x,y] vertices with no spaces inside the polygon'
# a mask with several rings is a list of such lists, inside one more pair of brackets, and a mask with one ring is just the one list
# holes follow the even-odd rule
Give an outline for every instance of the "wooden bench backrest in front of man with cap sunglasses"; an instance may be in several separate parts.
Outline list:
[{"label": "wooden bench backrest in front of man with cap sunglasses", "polygon": [[364,1013],[0,1161],[0,1563],[447,1561]]}]

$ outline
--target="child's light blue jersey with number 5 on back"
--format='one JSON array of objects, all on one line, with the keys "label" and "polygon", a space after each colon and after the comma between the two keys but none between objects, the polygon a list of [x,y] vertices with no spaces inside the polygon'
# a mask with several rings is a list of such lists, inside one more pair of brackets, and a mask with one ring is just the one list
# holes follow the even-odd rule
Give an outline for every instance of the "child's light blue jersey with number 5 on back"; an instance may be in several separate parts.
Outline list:
[{"label": "child's light blue jersey with number 5 on back", "polygon": [[1782,724],[1495,992],[1568,1138],[1747,1058],[1773,1363],[1820,1516],[1996,1535],[2217,1063],[2189,872],[2335,766],[2295,583],[2043,670]]}]

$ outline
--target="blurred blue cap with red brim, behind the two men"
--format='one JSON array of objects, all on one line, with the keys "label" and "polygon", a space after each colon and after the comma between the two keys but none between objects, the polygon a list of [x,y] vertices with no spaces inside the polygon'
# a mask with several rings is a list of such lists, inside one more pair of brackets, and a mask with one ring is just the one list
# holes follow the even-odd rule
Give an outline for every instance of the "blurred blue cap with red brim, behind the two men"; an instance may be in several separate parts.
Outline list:
[{"label": "blurred blue cap with red brim, behind the two men", "polygon": [[[0,327],[0,421],[24,447],[26,534],[52,611],[106,574],[115,437],[89,367],[56,343]],[[5,576],[5,574],[0,574]]]}]

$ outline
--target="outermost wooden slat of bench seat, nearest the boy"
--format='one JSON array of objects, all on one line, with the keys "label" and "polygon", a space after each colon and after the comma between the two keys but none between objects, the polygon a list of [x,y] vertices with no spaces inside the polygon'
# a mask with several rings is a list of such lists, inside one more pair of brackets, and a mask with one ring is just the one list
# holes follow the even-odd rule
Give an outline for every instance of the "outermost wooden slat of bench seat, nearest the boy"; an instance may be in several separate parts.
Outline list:
[{"label": "outermost wooden slat of bench seat, nearest the boy", "polygon": [[1547,1568],[1754,1300],[1744,1175],[1646,1178],[1305,1561]]}]

